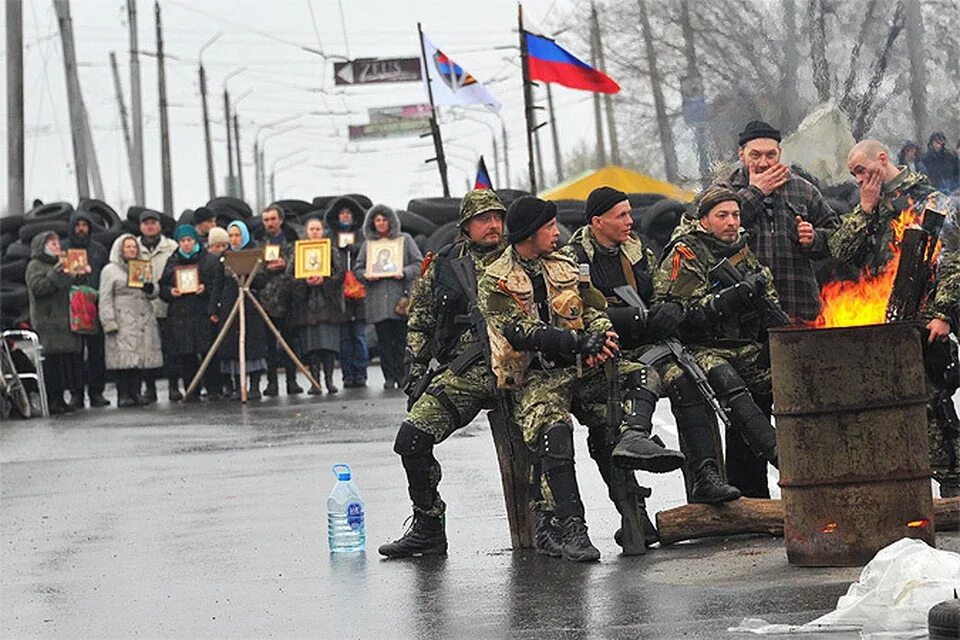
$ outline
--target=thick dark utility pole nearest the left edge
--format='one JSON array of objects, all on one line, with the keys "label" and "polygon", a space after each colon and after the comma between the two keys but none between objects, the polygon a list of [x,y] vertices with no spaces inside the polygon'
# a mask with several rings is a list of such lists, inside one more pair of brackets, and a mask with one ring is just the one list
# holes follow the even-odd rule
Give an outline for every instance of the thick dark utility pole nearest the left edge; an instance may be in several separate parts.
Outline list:
[{"label": "thick dark utility pole nearest the left edge", "polygon": [[23,2],[7,0],[7,215],[23,213]]}]

